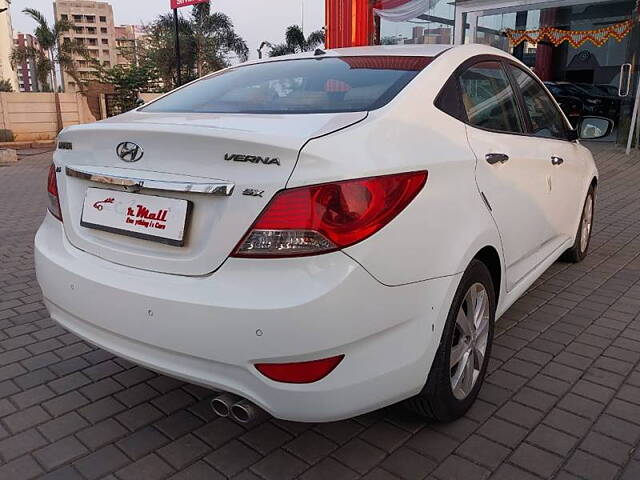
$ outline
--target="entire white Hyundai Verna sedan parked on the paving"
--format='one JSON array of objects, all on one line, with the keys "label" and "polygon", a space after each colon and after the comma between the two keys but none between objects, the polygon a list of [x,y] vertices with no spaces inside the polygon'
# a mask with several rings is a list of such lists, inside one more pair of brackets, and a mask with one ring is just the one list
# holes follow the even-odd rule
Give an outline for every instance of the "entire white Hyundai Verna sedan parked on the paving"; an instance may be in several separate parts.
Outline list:
[{"label": "entire white Hyundai Verna sedan parked on the paving", "polygon": [[69,331],[229,392],[221,415],[406,400],[448,421],[496,319],[587,253],[598,175],[578,136],[485,46],[247,63],[60,134],[38,280]]}]

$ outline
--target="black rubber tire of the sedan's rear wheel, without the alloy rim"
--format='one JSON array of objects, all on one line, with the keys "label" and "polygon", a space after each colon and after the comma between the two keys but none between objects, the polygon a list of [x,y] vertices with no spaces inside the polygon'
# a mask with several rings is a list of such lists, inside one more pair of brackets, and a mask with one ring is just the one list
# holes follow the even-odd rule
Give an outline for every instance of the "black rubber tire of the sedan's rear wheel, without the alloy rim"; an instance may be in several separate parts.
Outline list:
[{"label": "black rubber tire of the sedan's rear wheel, without the alloy rim", "polygon": [[[478,283],[484,287],[488,297],[489,324],[486,350],[473,388],[465,398],[460,399],[454,395],[452,388],[451,372],[454,368],[450,365],[451,350],[456,337],[458,337],[456,345],[460,342],[460,329],[456,326],[458,312],[465,302],[467,292]],[[450,422],[460,418],[469,410],[478,396],[487,372],[493,343],[495,312],[496,296],[489,269],[483,262],[473,260],[464,272],[460,285],[453,297],[440,346],[431,366],[427,382],[418,395],[405,401],[406,407],[423,417],[437,422]]]}]

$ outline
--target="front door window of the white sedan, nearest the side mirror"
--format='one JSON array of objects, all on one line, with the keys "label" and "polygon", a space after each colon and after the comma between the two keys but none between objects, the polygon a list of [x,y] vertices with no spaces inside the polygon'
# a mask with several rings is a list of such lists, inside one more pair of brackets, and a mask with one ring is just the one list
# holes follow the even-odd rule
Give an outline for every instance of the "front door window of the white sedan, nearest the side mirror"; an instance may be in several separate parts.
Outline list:
[{"label": "front door window of the white sedan, nearest the side mirror", "polygon": [[509,66],[522,93],[525,110],[531,120],[531,133],[543,138],[567,138],[567,129],[560,110],[540,84],[524,70]]}]

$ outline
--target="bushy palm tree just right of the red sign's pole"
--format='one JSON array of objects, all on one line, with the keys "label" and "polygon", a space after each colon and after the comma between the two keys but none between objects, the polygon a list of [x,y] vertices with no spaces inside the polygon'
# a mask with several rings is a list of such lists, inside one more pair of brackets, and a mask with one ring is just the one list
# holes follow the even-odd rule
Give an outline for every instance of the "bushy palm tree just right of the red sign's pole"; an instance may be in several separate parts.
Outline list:
[{"label": "bushy palm tree just right of the red sign's pole", "polygon": [[247,43],[235,32],[227,15],[211,13],[209,3],[200,3],[193,7],[191,17],[198,77],[228,67],[232,54],[241,62],[247,61]]}]

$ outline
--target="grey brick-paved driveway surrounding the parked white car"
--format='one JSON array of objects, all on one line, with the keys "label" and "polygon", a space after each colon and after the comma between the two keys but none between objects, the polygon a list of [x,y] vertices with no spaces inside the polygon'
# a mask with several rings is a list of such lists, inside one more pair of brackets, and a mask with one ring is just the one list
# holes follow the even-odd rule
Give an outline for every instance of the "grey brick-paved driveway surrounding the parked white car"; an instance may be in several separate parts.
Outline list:
[{"label": "grey brick-paved driveway surrounding the parked white car", "polygon": [[388,408],[246,429],[215,418],[212,392],[66,333],[33,270],[50,154],[0,168],[0,478],[640,479],[640,156],[597,150],[590,256],[507,312],[479,400],[449,425]]}]

